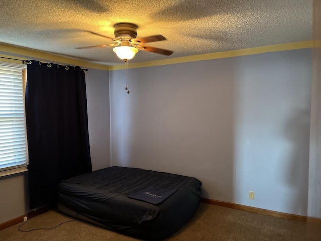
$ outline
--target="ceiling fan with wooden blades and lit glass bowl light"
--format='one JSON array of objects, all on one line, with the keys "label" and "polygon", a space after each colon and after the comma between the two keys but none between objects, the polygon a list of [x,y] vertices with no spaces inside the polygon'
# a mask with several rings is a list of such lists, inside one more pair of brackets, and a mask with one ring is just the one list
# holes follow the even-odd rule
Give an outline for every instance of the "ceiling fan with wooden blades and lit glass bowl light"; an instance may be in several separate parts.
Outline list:
[{"label": "ceiling fan with wooden blades and lit glass bowl light", "polygon": [[132,59],[138,50],[143,50],[147,52],[153,52],[157,54],[163,54],[170,56],[173,54],[173,51],[166,49],[159,49],[151,46],[145,45],[146,43],[163,41],[166,38],[162,35],[152,35],[148,37],[137,38],[137,28],[138,26],[131,23],[118,23],[114,25],[114,35],[115,38],[110,38],[101,34],[97,34],[91,31],[86,31],[88,33],[109,39],[111,41],[116,42],[115,44],[103,44],[103,45],[95,45],[95,46],[87,46],[87,47],[78,47],[75,49],[87,49],[87,48],[96,48],[96,47],[114,47],[113,51],[117,54],[117,56],[122,60]]}]

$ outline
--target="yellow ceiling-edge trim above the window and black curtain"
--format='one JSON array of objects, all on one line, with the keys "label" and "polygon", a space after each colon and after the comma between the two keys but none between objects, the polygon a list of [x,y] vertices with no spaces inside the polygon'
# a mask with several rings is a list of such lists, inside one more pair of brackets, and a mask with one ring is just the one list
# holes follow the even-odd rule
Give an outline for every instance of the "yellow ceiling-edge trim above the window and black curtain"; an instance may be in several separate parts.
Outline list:
[{"label": "yellow ceiling-edge trim above the window and black curtain", "polygon": [[[50,53],[46,53],[46,52],[41,52],[41,51],[37,51],[37,50],[33,50],[33,49],[27,49],[27,48],[7,45],[7,44],[0,43],[0,51],[5,52],[5,53],[9,53],[9,54],[19,55],[19,57],[9,56],[9,55],[0,55],[2,57],[6,57],[6,58],[24,58],[24,57],[26,57],[26,60],[30,59],[30,58],[36,58],[38,60],[42,59],[42,60],[64,63],[64,64],[68,64],[68,65],[70,64],[70,65],[76,65],[76,66],[81,66],[81,67],[86,67],[86,68],[92,68],[92,69],[109,70],[108,65],[90,63],[90,62],[83,61],[83,60],[72,59],[72,58],[68,58],[68,57],[63,57],[63,56],[59,56],[59,55],[55,55],[55,54],[50,54]],[[21,57],[21,56],[24,56],[24,57]],[[13,62],[13,60],[9,60],[9,59],[4,59],[4,61],[17,63],[17,61]]]}]

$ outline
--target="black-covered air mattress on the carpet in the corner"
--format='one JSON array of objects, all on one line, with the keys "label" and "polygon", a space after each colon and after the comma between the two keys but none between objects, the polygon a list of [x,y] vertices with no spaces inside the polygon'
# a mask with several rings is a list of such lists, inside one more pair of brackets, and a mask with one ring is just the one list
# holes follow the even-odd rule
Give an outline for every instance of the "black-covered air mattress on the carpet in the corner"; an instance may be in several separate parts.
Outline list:
[{"label": "black-covered air mattress on the carpet in the corner", "polygon": [[[128,197],[150,186],[177,191],[157,205]],[[159,240],[190,220],[200,204],[201,186],[193,177],[109,167],[61,181],[58,202],[112,230]]]}]

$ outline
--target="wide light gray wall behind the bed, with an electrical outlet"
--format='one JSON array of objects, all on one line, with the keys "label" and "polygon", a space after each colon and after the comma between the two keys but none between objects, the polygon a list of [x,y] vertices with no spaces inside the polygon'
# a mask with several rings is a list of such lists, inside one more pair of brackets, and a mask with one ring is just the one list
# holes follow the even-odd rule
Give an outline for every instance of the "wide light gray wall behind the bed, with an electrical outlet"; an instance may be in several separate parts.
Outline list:
[{"label": "wide light gray wall behind the bed, with an electrical outlet", "polygon": [[[194,176],[203,197],[306,215],[311,50],[110,72],[111,165]],[[248,199],[249,191],[255,200]]]}]

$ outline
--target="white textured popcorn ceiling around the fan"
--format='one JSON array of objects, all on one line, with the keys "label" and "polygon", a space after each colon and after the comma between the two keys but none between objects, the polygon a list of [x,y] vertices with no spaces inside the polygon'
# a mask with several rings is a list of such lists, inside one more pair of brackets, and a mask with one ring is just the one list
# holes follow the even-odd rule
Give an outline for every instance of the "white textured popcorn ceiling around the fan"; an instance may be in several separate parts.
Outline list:
[{"label": "white textured popcorn ceiling around the fan", "polygon": [[137,37],[171,56],[139,51],[131,62],[306,41],[312,38],[312,0],[1,0],[0,42],[108,65],[122,64],[112,47],[74,49],[112,41],[113,25],[138,25]]}]

